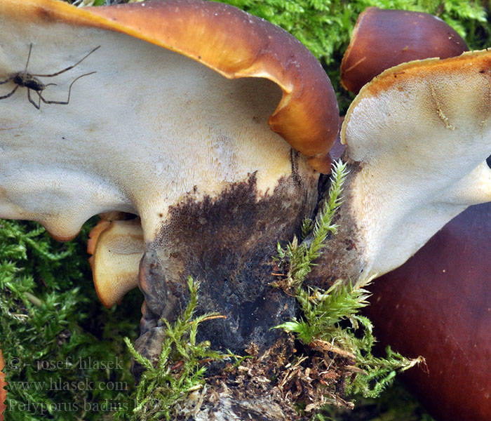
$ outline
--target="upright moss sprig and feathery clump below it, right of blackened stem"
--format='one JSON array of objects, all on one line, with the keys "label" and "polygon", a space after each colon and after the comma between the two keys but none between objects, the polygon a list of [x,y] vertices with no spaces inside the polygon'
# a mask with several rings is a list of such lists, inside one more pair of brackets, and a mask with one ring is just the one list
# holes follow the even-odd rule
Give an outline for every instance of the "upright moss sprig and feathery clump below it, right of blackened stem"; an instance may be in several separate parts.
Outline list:
[{"label": "upright moss sprig and feathery clump below it, right of blackened stem", "polygon": [[[328,197],[316,221],[304,221],[302,236],[305,238],[302,243],[294,237],[285,249],[278,244],[278,258],[288,262],[286,287],[295,290],[301,316],[276,328],[294,333],[306,346],[307,358],[311,359],[309,373],[325,373],[331,369],[333,374],[329,378],[337,378],[336,382],[330,383],[328,377],[319,377],[317,387],[321,396],[309,392],[310,396],[317,397],[316,403],[309,403],[307,408],[320,408],[323,402],[350,407],[344,401],[345,394],[377,397],[391,384],[397,371],[424,363],[422,357],[407,359],[390,347],[386,349],[384,358],[372,354],[375,345],[373,326],[367,317],[360,314],[360,310],[369,305],[370,292],[362,285],[339,279],[328,290],[302,286],[315,265],[315,259],[321,255],[328,235],[337,232],[332,220],[342,204],[342,185],[346,175],[345,164],[340,161],[333,164]],[[318,359],[319,354],[322,355],[321,359]],[[321,361],[321,365],[325,361],[332,363],[327,367],[316,367],[314,361]],[[344,393],[336,392],[339,389]]]}]

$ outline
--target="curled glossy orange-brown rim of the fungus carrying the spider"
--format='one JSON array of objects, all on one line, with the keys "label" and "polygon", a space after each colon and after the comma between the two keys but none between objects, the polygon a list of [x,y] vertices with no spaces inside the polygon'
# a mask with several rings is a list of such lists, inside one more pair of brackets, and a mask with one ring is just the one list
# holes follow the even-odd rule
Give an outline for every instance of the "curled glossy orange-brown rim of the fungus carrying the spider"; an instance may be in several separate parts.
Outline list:
[{"label": "curled glossy orange-brown rim of the fungus carrying the spider", "polygon": [[186,55],[229,79],[274,81],[283,97],[269,117],[271,129],[307,156],[317,171],[330,172],[328,152],[338,129],[332,85],[307,48],[265,20],[233,6],[200,0],[84,9],[29,0],[3,9],[2,13],[27,14],[34,21],[60,20],[122,32]]}]

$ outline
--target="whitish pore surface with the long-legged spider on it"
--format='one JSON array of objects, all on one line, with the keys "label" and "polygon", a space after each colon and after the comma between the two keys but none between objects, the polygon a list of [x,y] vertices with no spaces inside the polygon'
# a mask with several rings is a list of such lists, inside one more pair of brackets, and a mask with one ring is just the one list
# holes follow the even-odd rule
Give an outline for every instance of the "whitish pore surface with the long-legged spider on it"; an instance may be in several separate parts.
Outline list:
[{"label": "whitish pore surface with the long-legged spider on it", "polygon": [[[60,238],[96,213],[142,217],[152,238],[168,206],[256,173],[260,194],[290,174],[290,146],[267,126],[281,90],[264,79],[228,80],[130,36],[62,24],[15,26],[0,16],[0,80],[25,68],[51,74],[46,100],[18,88],[0,100],[0,217],[37,220]],[[13,82],[0,85],[0,96]],[[37,95],[31,91],[32,98]],[[304,161],[300,171],[312,173]]]}]

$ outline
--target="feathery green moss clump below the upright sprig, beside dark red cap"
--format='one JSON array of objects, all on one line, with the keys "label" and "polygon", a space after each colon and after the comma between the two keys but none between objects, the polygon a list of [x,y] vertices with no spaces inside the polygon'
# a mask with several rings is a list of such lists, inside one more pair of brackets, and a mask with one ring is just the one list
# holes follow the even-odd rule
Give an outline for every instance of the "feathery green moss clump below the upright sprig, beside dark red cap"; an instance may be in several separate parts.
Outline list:
[{"label": "feathery green moss clump below the upright sprig, beside dark red cap", "polygon": [[351,283],[337,281],[322,292],[297,289],[302,318],[277,326],[295,333],[305,345],[317,351],[334,352],[353,359],[355,372],[347,372],[345,393],[376,398],[394,380],[397,371],[408,370],[424,359],[407,359],[386,348],[386,356],[372,354],[375,337],[371,321],[359,314],[369,305],[370,292]]}]

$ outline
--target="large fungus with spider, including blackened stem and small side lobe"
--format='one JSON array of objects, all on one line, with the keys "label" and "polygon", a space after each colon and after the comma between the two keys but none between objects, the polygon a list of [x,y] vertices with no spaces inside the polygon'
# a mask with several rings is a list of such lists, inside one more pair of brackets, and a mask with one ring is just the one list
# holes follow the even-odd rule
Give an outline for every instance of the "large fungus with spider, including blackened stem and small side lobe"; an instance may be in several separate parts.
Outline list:
[{"label": "large fungus with spider, including blackened stem and small side lobe", "polygon": [[[213,2],[80,10],[4,0],[0,24],[5,79],[25,68],[30,44],[32,74],[86,57],[52,78],[53,100],[95,72],[63,107],[36,109],[19,92],[1,103],[0,215],[36,220],[58,239],[97,213],[138,215],[131,244],[112,234],[130,222],[93,233],[105,304],[136,282],[144,293],[137,347],[160,352],[159,321],[184,306],[189,275],[201,282],[203,308],[227,316],[208,323],[214,347],[266,347],[279,335],[269,327],[294,306],[262,279],[276,241],[313,212],[312,166],[329,171],[338,129],[321,65],[282,29]],[[121,275],[105,265],[109,255],[134,265],[136,279],[130,267]]]}]

